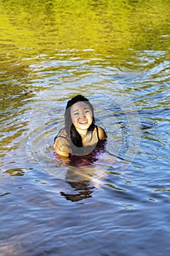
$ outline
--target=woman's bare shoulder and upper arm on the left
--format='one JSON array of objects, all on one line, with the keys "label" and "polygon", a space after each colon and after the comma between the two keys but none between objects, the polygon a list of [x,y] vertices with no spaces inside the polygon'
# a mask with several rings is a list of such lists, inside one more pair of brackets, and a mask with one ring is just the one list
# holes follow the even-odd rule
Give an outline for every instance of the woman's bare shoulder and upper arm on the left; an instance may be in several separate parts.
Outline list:
[{"label": "woman's bare shoulder and upper arm on the left", "polygon": [[58,135],[55,137],[55,141],[53,144],[55,152],[63,157],[69,157],[71,153],[69,140],[66,137],[66,134],[62,131],[59,132]]}]

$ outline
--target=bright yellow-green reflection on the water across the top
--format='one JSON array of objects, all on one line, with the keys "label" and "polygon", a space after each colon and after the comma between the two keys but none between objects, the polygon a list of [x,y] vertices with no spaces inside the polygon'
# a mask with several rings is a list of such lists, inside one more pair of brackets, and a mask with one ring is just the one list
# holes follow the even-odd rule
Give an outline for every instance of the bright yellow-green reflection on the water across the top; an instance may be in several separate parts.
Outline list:
[{"label": "bright yellow-green reflection on the water across the top", "polygon": [[[20,58],[93,49],[119,63],[134,50],[169,48],[169,1],[0,1],[1,42]],[[14,53],[13,53],[14,54]],[[93,56],[83,52],[82,56]]]}]

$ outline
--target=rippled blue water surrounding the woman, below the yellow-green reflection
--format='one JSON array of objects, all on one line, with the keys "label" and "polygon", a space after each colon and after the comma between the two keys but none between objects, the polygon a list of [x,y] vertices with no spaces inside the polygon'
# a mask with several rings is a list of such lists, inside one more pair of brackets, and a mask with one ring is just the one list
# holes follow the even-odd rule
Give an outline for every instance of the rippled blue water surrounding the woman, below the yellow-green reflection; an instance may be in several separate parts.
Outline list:
[{"label": "rippled blue water surrounding the woman, below the yellow-green reflection", "polygon": [[[30,69],[37,86],[39,77],[51,86],[4,118],[13,137],[1,167],[2,255],[169,255],[169,62],[158,67],[161,79],[156,67],[89,66],[73,77],[80,61],[70,60],[60,63],[68,69],[60,81],[49,65]],[[52,147],[76,93],[88,95],[108,135],[101,159],[82,169],[58,163]]]}]

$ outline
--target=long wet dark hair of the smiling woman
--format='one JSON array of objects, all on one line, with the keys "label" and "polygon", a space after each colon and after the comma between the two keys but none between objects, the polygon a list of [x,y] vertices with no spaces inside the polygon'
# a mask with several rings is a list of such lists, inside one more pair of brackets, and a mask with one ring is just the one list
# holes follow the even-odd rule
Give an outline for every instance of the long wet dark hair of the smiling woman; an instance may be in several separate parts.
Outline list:
[{"label": "long wet dark hair of the smiling woman", "polygon": [[[72,99],[70,99],[67,102],[66,105],[66,111],[65,111],[65,129],[66,129],[66,134],[68,135],[68,138],[70,140],[70,144],[72,148],[82,147],[82,138],[79,134],[79,132],[77,132],[77,129],[74,127],[74,124],[72,123],[72,117],[71,117],[71,113],[70,113],[70,108],[72,107],[72,105],[74,105],[77,102],[86,102],[89,107],[90,110],[93,113],[93,106],[91,105],[91,103],[89,102],[89,100],[85,97],[83,97],[82,95],[77,95],[75,97],[73,97]],[[93,121],[90,124],[90,127],[88,127],[88,132],[93,132],[93,129],[95,128],[95,119],[94,119],[94,113],[93,113]]]}]

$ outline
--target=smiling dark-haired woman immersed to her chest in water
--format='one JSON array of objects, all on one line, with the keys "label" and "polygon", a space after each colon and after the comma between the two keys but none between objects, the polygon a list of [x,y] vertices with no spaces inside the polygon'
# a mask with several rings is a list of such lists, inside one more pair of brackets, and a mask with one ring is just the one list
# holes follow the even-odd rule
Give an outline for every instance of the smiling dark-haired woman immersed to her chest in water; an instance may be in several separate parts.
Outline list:
[{"label": "smiling dark-haired woman immersed to her chest in water", "polygon": [[93,106],[82,95],[77,95],[67,102],[65,127],[54,140],[55,153],[61,157],[90,154],[107,138],[104,129],[96,126]]}]

